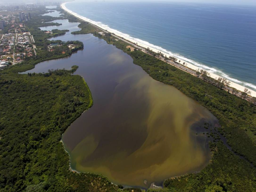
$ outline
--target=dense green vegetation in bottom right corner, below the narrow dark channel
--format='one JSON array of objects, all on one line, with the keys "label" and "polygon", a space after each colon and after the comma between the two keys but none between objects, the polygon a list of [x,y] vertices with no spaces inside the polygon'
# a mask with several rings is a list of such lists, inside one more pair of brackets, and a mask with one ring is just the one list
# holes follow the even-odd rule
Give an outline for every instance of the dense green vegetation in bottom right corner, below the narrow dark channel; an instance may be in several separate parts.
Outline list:
[{"label": "dense green vegetation in bottom right corner, below the narrow dark channel", "polygon": [[164,181],[171,191],[255,191],[256,170],[221,142],[211,145],[212,162],[197,174]]}]

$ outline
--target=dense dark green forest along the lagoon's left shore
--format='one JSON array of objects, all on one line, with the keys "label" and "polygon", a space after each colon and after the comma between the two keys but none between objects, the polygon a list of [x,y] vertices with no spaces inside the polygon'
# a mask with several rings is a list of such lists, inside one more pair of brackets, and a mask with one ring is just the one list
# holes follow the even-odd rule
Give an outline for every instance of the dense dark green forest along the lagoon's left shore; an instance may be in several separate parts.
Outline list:
[{"label": "dense dark green forest along the lagoon's left shore", "polygon": [[[0,71],[0,191],[118,191],[103,176],[70,170],[68,153],[60,142],[68,125],[92,106],[84,79],[71,75],[78,67],[18,74],[41,61],[70,55],[83,44],[48,41],[50,36],[37,27],[28,24],[28,28],[37,56]],[[49,52],[40,40],[61,46]],[[68,44],[77,46],[71,52]],[[61,53],[64,49],[67,54]]]}]

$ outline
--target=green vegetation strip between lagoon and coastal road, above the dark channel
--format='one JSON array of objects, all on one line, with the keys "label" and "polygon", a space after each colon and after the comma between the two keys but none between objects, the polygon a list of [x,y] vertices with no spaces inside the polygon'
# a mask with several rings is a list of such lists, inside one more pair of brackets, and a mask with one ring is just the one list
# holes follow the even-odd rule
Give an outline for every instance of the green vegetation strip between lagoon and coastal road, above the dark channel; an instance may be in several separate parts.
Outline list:
[{"label": "green vegetation strip between lagoon and coastal road, above the dark channel", "polygon": [[[122,48],[120,43],[114,44]],[[232,149],[256,165],[254,105],[146,53],[127,53],[154,79],[176,87],[209,109],[219,119],[219,131],[228,139]]]}]

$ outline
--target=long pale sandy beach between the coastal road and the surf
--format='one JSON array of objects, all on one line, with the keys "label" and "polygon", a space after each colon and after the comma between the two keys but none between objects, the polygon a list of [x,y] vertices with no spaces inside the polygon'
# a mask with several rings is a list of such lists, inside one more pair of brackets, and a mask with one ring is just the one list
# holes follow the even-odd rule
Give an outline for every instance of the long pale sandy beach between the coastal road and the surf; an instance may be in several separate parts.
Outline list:
[{"label": "long pale sandy beach between the coastal road and the surf", "polygon": [[[148,44],[148,42],[143,42],[143,41],[140,40],[140,39],[134,39],[134,38],[132,38],[131,36],[129,36],[129,35],[127,35],[127,34],[123,34],[123,33],[121,33],[120,31],[118,31],[118,30],[116,30],[116,29],[109,28],[107,25],[102,25],[102,23],[100,23],[100,22],[96,22],[96,21],[90,20],[90,19],[88,19],[88,18],[85,18],[85,17],[83,17],[83,16],[81,16],[81,15],[78,15],[77,13],[72,12],[72,11],[70,11],[70,10],[68,10],[68,9],[66,8],[65,4],[67,4],[67,3],[70,3],[70,2],[66,2],[66,3],[61,4],[61,5],[60,5],[61,8],[62,8],[63,10],[65,10],[66,12],[68,12],[69,14],[71,14],[71,15],[73,15],[73,16],[75,16],[75,17],[81,19],[81,20],[84,20],[84,21],[86,21],[86,22],[88,22],[88,23],[91,23],[91,24],[93,24],[93,25],[95,25],[95,26],[97,26],[97,27],[99,27],[99,28],[101,28],[101,29],[103,29],[103,30],[108,30],[108,32],[114,33],[116,36],[122,37],[122,38],[124,38],[124,39],[126,39],[126,40],[128,40],[128,41],[130,41],[130,42],[137,43],[140,47],[143,47],[143,48],[148,48],[148,47],[149,47],[149,49],[151,49],[151,50],[154,51],[154,52],[162,52],[162,53],[166,54],[167,57],[169,57],[169,56],[177,57],[176,55],[170,55],[170,54],[168,54],[168,51],[167,51],[167,50],[163,51],[163,50],[157,49],[158,46],[156,46],[156,45]],[[180,59],[180,58],[179,58],[179,60],[180,60],[180,63],[186,62],[188,68],[191,68],[191,69],[194,69],[194,70],[197,70],[198,68],[201,69],[200,67],[197,67],[197,66],[195,66],[195,65],[193,65],[193,64],[191,64],[191,63],[189,63],[188,61],[182,60],[182,59]],[[214,78],[214,79],[220,77],[219,75],[216,75],[216,74],[214,74],[214,73],[212,73],[212,72],[210,72],[210,71],[209,71],[209,73],[210,73],[210,76],[211,76],[212,78]],[[244,86],[242,86],[242,85],[240,85],[240,84],[237,84],[237,83],[235,83],[235,82],[232,82],[232,81],[230,81],[230,82],[231,82],[230,87],[236,88],[237,90],[239,90],[239,91],[241,91],[241,92],[244,91],[244,88],[245,88]],[[256,91],[253,91],[253,90],[251,90],[251,89],[249,89],[249,91],[252,92],[252,93],[251,93],[251,96],[252,96],[252,97],[256,97]]]}]

